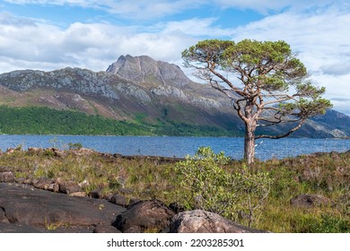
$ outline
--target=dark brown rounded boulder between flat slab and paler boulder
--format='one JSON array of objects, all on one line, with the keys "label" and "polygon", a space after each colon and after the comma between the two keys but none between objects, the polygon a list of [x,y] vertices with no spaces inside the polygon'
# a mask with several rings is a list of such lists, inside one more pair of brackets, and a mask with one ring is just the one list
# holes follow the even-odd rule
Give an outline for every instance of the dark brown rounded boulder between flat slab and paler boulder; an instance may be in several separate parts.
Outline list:
[{"label": "dark brown rounded boulder between flat slab and paler boulder", "polygon": [[174,212],[158,200],[140,201],[118,215],[113,226],[122,232],[168,232]]}]

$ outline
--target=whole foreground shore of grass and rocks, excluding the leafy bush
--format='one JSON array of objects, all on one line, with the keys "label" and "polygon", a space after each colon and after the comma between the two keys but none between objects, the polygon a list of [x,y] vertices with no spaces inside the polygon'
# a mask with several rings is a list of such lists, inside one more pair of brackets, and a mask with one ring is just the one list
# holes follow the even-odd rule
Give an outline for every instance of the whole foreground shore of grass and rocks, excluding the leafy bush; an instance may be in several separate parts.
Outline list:
[{"label": "whole foreground shore of grass and rocks, excluding the leafy bush", "polygon": [[[258,228],[348,232],[349,153],[261,162],[259,168],[268,169],[276,182]],[[166,179],[178,159],[106,155],[83,148],[9,149],[0,157],[0,232],[261,232],[212,212],[183,212],[171,203],[176,200],[168,196],[174,181]],[[232,162],[232,168],[235,164],[241,165]],[[82,166],[85,172],[78,177]],[[154,179],[126,182],[150,173]],[[167,204],[149,200],[153,197]]]}]

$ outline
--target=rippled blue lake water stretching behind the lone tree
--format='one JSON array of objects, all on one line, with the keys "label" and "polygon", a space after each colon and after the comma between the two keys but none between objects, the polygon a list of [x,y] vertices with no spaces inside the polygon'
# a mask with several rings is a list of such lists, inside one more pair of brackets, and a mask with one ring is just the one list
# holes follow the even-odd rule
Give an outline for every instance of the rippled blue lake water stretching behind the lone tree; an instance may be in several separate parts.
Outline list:
[{"label": "rippled blue lake water stretching behind the lone tree", "polygon": [[[72,136],[72,135],[0,135],[0,149],[22,145],[28,147],[57,147],[68,149],[68,143],[82,143],[95,151],[122,155],[152,155],[185,157],[193,155],[201,146],[215,152],[224,151],[236,160],[243,157],[242,138],[214,137],[139,137],[139,136]],[[259,160],[282,159],[301,154],[326,151],[349,151],[350,140],[283,138],[258,140],[256,157]]]}]

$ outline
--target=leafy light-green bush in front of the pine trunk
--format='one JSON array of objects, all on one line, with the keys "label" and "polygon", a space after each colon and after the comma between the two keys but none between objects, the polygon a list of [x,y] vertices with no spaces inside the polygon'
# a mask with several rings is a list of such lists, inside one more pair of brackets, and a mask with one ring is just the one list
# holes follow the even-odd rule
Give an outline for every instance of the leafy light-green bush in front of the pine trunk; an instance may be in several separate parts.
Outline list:
[{"label": "leafy light-green bush in front of the pine trunk", "polygon": [[270,191],[272,178],[267,172],[253,172],[243,166],[228,169],[230,159],[223,151],[199,148],[176,166],[178,203],[187,209],[215,212],[251,226]]}]

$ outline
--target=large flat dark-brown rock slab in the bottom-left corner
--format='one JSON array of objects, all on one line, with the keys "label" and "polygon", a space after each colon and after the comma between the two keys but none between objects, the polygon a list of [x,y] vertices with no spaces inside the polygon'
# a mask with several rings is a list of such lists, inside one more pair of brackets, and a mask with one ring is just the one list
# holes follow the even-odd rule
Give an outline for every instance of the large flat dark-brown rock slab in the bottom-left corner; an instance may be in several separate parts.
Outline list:
[{"label": "large flat dark-brown rock slab in the bottom-left corner", "polygon": [[125,210],[106,200],[57,194],[29,185],[0,183],[0,232],[15,229],[31,232],[32,228],[92,232],[96,226],[109,228],[117,215]]}]

